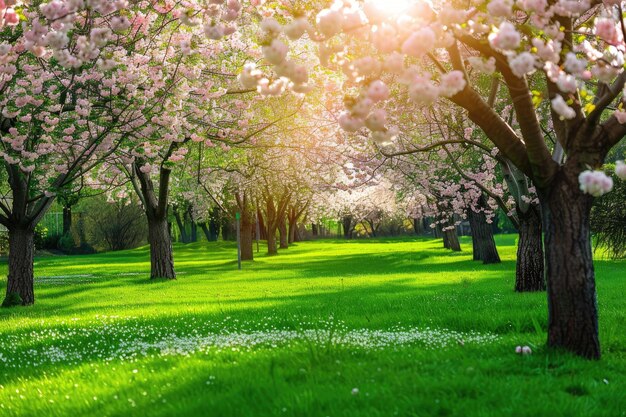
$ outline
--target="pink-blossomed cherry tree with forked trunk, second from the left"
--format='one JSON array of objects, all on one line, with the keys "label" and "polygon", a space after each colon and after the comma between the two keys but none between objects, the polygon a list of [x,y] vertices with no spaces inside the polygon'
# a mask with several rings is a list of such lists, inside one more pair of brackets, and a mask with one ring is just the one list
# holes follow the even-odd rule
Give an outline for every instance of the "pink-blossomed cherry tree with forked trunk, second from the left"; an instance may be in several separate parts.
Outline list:
[{"label": "pink-blossomed cherry tree with forked trunk, second from the left", "polygon": [[[263,100],[250,95],[255,89],[242,89],[237,82],[236,71],[244,60],[256,58],[254,50],[248,54],[246,41],[254,7],[242,13],[243,6],[230,0],[154,8],[158,19],[145,18],[134,26],[142,42],[134,47],[131,55],[136,59],[126,65],[124,74],[142,91],[143,101],[129,105],[141,113],[143,123],[129,134],[130,145],[116,153],[111,171],[131,181],[145,209],[150,277],[174,279],[168,213],[186,235],[181,207],[172,210],[169,198],[176,166],[195,149],[227,154],[275,120],[264,121]],[[125,101],[125,97],[117,99]],[[291,115],[287,112],[274,119]],[[183,215],[190,217],[190,213]]]}]

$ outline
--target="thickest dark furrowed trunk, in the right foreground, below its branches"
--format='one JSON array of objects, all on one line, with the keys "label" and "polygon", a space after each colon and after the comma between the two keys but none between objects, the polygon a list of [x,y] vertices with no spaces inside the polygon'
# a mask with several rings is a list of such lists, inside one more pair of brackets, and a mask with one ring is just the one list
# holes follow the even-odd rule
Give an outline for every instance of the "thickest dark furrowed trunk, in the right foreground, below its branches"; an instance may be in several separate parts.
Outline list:
[{"label": "thickest dark furrowed trunk, in the right foreground, below its branches", "polygon": [[[572,161],[568,161],[573,164]],[[540,189],[548,287],[548,346],[600,358],[598,306],[591,251],[592,197],[570,166]]]}]

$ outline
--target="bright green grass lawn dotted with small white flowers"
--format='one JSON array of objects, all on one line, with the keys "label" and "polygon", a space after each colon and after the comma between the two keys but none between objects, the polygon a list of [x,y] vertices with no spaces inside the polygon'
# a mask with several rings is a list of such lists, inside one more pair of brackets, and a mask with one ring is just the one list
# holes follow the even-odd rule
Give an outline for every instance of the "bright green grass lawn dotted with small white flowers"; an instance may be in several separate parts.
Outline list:
[{"label": "bright green grass lawn dotted with small white flowers", "polygon": [[544,349],[513,236],[500,265],[463,243],[303,242],[242,271],[232,244],[176,246],[173,282],[146,248],[39,258],[36,305],[0,310],[0,416],[626,416],[626,261],[596,261],[588,362]]}]

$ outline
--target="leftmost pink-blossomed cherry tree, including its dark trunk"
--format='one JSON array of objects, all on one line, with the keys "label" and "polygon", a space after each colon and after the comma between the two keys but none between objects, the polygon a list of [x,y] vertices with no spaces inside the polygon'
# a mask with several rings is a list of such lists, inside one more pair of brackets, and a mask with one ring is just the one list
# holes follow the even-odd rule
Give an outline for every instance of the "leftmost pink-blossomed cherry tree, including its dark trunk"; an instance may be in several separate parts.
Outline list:
[{"label": "leftmost pink-blossomed cherry tree, including its dark trunk", "polygon": [[55,196],[97,166],[133,128],[136,115],[110,97],[122,91],[111,59],[132,40],[124,1],[0,3],[0,135],[9,230],[3,305],[28,305],[33,233]]}]

